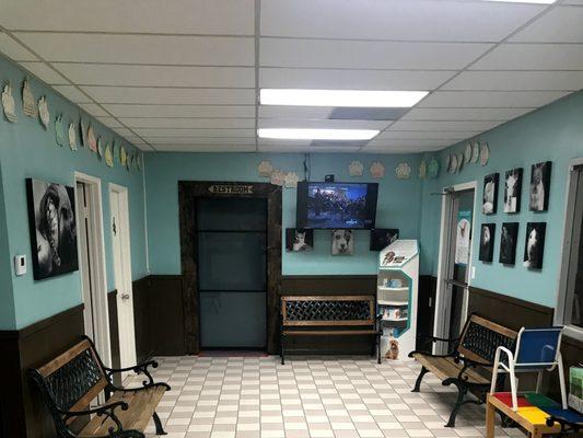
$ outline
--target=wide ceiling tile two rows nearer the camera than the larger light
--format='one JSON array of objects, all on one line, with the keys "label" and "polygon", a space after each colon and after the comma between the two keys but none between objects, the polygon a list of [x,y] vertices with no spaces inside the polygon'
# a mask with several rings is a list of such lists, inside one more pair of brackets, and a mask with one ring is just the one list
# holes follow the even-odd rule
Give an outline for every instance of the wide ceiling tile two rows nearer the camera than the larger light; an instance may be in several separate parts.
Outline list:
[{"label": "wide ceiling tile two rows nearer the camera than the larger light", "polygon": [[467,66],[490,44],[261,38],[260,67],[442,69]]}]

